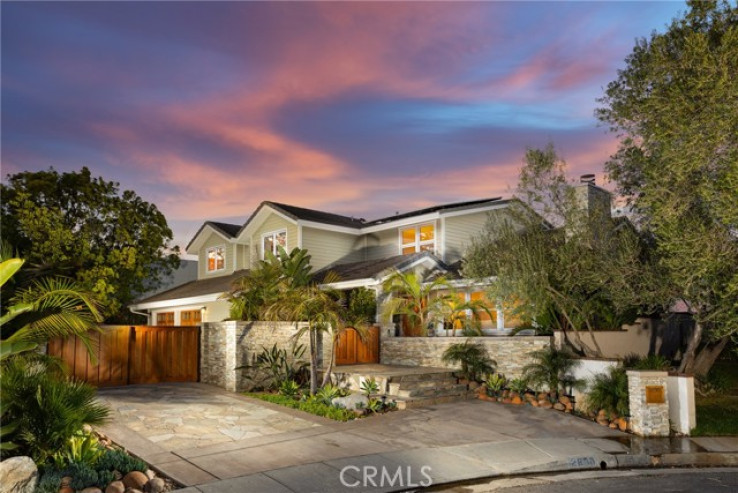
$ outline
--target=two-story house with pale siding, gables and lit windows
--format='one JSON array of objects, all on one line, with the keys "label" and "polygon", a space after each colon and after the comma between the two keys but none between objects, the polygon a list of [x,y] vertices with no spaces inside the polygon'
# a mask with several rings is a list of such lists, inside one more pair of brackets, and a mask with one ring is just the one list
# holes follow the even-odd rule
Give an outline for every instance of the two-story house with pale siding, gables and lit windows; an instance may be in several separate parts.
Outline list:
[{"label": "two-story house with pale siding, gables and lit windows", "polygon": [[[394,270],[424,268],[455,278],[461,296],[477,299],[483,286],[460,279],[457,268],[490,214],[505,214],[510,200],[491,198],[445,204],[367,221],[276,202],[262,202],[243,226],[208,221],[187,245],[198,256],[198,276],[131,306],[151,325],[199,325],[229,316],[221,297],[265,252],[307,249],[317,276],[335,272],[339,289],[381,290]],[[487,325],[504,327],[503,315]]]}]

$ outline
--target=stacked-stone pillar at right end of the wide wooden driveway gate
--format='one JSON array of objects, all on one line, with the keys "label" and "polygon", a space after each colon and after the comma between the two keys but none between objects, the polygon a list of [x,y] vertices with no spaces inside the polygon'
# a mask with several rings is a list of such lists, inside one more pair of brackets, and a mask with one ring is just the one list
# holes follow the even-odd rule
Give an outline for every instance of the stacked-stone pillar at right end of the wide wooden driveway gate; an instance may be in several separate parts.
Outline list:
[{"label": "stacked-stone pillar at right end of the wide wooden driveway gate", "polygon": [[238,322],[205,322],[200,329],[200,381],[236,390]]}]

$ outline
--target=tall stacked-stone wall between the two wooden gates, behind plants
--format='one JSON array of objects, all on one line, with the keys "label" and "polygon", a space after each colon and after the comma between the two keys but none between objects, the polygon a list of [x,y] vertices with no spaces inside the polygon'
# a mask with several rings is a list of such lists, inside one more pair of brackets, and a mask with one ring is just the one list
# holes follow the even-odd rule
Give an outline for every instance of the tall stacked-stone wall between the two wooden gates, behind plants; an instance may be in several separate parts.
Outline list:
[{"label": "tall stacked-stone wall between the two wooden gates, behind plants", "polygon": [[[302,325],[301,325],[302,326]],[[240,391],[252,386],[246,372],[236,370],[250,365],[264,348],[273,345],[290,351],[304,344],[304,359],[309,361],[308,335],[295,338],[298,329],[287,322],[207,322],[200,330],[200,381],[226,390]],[[330,344],[319,341],[319,365],[330,358]]]}]

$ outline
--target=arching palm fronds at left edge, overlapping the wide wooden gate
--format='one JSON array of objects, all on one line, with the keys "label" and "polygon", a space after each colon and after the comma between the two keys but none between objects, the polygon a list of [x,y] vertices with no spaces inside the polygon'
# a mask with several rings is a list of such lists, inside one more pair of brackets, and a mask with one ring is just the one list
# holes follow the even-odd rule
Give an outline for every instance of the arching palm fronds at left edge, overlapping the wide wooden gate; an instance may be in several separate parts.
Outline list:
[{"label": "arching palm fronds at left edge, overlapping the wide wooden gate", "polygon": [[[10,281],[24,261],[11,258],[0,263],[0,287]],[[91,294],[74,281],[42,278],[21,289],[3,304],[0,315],[0,361],[36,349],[54,337],[79,336],[88,346],[87,332],[102,320]]]}]

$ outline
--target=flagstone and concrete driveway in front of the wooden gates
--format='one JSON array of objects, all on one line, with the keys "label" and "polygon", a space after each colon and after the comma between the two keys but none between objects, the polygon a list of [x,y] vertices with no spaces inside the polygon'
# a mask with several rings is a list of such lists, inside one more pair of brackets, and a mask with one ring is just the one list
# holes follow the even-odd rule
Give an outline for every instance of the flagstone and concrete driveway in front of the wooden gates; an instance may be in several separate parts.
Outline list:
[{"label": "flagstone and concrete driveway in front of the wooden gates", "polygon": [[204,384],[102,389],[99,396],[113,409],[103,431],[185,485],[470,444],[576,439],[583,448],[618,448],[627,436],[564,413],[477,400],[340,423]]}]

